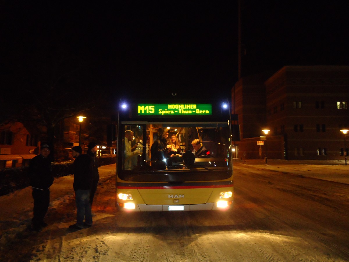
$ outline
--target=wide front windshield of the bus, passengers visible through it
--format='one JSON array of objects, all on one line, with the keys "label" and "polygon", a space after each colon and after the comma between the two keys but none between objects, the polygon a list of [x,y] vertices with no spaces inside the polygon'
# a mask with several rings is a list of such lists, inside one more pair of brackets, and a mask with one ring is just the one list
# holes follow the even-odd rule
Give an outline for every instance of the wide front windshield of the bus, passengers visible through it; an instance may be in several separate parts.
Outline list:
[{"label": "wide front windshield of the bus, passengers visible through it", "polygon": [[126,181],[217,180],[231,176],[228,122],[121,123]]}]

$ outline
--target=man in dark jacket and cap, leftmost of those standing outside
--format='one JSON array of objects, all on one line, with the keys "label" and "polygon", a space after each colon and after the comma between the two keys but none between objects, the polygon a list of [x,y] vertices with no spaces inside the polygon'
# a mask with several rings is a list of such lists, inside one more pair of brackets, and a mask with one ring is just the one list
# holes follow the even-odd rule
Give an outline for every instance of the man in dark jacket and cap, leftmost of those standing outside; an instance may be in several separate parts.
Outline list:
[{"label": "man in dark jacket and cap, leftmost of those standing outside", "polygon": [[32,224],[35,231],[41,231],[47,226],[44,217],[50,204],[50,186],[53,183],[51,161],[47,158],[50,147],[42,145],[40,154],[34,157],[29,164],[29,180],[34,198]]}]

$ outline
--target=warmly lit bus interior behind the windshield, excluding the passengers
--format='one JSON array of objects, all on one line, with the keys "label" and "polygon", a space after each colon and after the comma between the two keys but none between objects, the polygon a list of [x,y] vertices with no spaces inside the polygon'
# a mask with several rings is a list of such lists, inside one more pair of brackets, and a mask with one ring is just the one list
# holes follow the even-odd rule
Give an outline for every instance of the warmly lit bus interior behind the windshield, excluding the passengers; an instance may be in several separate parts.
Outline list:
[{"label": "warmly lit bus interior behind the windshield, excluding the passengers", "polygon": [[[180,145],[178,155],[175,157],[165,155],[164,159],[158,160],[164,162],[161,168],[157,165],[157,161],[151,161],[150,152],[151,146],[157,139],[159,128],[165,128],[168,131],[168,142],[170,137],[175,135]],[[137,145],[134,150],[140,153],[129,157],[124,155],[124,165],[119,172],[122,179],[143,181],[144,174],[166,174],[166,176],[177,174],[177,178],[178,174],[191,176],[199,174],[196,180],[216,180],[231,175],[231,141],[227,122],[124,123],[121,131],[126,130],[134,133],[131,146]],[[195,157],[192,146],[194,139],[199,139],[202,146],[207,149],[206,153],[200,157]],[[128,145],[125,144],[125,139],[122,142],[125,152]],[[125,165],[127,161],[131,161],[131,165],[129,163]],[[126,166],[131,167],[125,168]]]}]

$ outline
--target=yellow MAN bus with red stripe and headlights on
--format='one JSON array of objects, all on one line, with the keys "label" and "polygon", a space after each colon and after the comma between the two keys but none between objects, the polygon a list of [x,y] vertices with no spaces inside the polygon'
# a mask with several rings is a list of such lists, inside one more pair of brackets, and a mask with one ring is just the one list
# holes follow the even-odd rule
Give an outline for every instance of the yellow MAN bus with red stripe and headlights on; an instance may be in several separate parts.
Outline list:
[{"label": "yellow MAN bus with red stripe and headlights on", "polygon": [[[121,99],[117,124],[118,210],[230,209],[232,116],[228,100]],[[152,157],[159,129],[168,132],[168,140],[176,136],[180,153]],[[194,140],[206,148],[203,155],[195,156]]]}]

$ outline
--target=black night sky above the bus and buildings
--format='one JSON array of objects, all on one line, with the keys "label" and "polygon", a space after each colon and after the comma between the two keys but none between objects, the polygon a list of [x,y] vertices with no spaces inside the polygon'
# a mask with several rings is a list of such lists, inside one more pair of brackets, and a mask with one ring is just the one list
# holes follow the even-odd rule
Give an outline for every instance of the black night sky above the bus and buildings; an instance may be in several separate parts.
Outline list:
[{"label": "black night sky above the bus and buildings", "polygon": [[[348,65],[348,2],[242,1],[242,76]],[[0,16],[6,92],[42,84],[41,67],[110,97],[230,97],[238,80],[237,1],[8,1]]]}]

